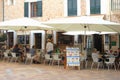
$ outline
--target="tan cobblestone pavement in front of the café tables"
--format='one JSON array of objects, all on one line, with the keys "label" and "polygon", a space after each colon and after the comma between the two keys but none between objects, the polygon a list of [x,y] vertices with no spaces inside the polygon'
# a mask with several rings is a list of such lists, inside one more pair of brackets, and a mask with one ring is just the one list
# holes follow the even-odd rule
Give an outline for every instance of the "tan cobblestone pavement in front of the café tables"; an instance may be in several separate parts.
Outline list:
[{"label": "tan cobblestone pavement in front of the caf\u00e9 tables", "polygon": [[119,80],[120,70],[64,69],[63,66],[0,61],[0,80]]}]

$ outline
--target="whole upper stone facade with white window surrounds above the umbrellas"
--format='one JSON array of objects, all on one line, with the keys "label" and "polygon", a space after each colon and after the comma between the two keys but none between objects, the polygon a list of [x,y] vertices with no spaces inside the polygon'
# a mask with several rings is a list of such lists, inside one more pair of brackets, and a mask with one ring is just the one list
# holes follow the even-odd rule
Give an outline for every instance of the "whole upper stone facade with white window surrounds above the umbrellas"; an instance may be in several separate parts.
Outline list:
[{"label": "whole upper stone facade with white window surrounds above the umbrellas", "polygon": [[[3,0],[0,0],[0,21],[3,21]],[[42,1],[42,16],[31,17],[31,5],[36,1]],[[71,0],[72,1],[72,0]],[[91,14],[90,2],[96,0],[74,0],[77,1],[76,16],[68,16],[68,0],[4,0],[4,20],[10,20],[15,18],[24,17],[25,2],[28,2],[28,17],[36,19],[38,21],[47,21],[53,18],[60,17],[77,17],[77,16],[100,16],[104,15],[104,18],[114,22],[120,22],[119,11],[110,11],[111,0],[97,0],[100,1],[99,14]],[[36,3],[35,3],[36,4]],[[99,6],[99,5],[98,5]]]}]

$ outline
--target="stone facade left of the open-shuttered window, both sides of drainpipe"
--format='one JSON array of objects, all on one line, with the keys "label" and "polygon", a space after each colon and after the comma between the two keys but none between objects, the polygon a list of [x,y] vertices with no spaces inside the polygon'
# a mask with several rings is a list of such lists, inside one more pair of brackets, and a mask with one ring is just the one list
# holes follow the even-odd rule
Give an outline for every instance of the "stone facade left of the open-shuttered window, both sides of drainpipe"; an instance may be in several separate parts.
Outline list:
[{"label": "stone facade left of the open-shuttered window, both sides of drainpipe", "polygon": [[[10,2],[13,1],[13,2]],[[0,18],[3,18],[3,0],[0,0]],[[24,0],[4,0],[4,20],[24,17]]]}]

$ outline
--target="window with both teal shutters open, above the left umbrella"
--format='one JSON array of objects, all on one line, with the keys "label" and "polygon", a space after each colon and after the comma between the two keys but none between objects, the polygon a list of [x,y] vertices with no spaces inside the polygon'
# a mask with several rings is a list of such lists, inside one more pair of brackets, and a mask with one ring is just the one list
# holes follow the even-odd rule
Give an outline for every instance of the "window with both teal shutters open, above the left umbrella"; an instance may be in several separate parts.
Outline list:
[{"label": "window with both teal shutters open, above the left umbrella", "polygon": [[24,3],[24,16],[25,17],[41,17],[42,16],[42,1],[39,0],[37,2],[25,2]]}]

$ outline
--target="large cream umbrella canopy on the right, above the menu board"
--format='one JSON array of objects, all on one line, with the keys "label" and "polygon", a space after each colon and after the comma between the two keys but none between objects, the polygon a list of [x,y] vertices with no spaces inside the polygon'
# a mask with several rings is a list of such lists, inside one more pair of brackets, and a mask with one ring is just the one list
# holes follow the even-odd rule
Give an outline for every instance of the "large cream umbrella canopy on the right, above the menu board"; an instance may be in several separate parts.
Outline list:
[{"label": "large cream umbrella canopy on the right, above the menu board", "polygon": [[93,16],[51,19],[44,24],[64,31],[120,32],[120,24]]}]

